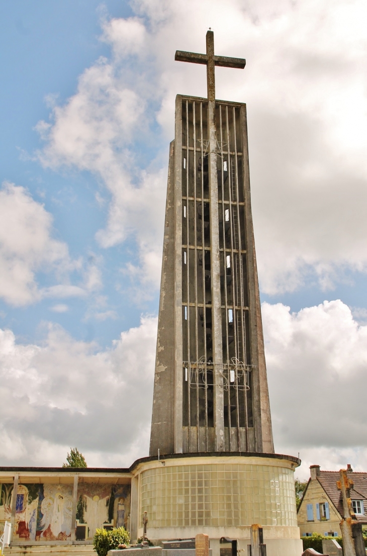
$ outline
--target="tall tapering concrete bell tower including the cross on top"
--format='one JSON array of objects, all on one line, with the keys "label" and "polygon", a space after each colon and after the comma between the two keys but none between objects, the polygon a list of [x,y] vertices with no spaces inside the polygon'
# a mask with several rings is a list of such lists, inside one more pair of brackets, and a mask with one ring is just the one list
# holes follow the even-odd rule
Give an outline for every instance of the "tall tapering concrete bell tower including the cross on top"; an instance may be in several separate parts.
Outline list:
[{"label": "tall tapering concrete bell tower including the cross on top", "polygon": [[252,227],[246,106],[177,95],[170,146],[150,455],[274,453]]}]

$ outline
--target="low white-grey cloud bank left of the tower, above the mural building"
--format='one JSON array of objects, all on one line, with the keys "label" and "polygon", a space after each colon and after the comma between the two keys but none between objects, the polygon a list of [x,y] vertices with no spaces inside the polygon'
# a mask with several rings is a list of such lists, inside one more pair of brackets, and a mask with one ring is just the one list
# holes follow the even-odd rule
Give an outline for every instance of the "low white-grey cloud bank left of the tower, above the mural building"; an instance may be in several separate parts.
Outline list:
[{"label": "low white-grey cloud bank left of the tower, above the mural building", "polygon": [[58,326],[41,346],[0,330],[2,464],[61,465],[70,446],[90,466],[146,455],[156,333],[157,319],[142,317],[101,350]]}]

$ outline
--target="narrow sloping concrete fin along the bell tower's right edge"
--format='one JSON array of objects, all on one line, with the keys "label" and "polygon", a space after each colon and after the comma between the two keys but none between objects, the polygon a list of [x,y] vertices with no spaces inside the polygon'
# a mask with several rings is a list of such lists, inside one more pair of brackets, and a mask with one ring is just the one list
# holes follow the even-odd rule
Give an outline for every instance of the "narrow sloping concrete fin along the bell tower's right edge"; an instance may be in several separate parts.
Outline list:
[{"label": "narrow sloping concrete fin along the bell tower's right edge", "polygon": [[247,236],[247,273],[249,277],[250,342],[252,365],[255,451],[274,453],[267,386],[264,336],[262,332],[259,280],[257,277],[254,226],[252,224],[249,146],[247,139],[246,105],[241,106],[242,150],[244,159],[245,219]]}]

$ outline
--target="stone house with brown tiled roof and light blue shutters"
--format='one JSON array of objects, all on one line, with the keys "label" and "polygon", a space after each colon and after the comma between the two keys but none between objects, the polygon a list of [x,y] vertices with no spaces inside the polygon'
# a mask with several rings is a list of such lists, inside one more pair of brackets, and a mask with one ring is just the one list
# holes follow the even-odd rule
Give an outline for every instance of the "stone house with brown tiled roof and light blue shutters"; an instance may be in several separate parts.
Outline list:
[{"label": "stone house with brown tiled roof and light blue shutters", "polygon": [[[339,523],[344,518],[343,499],[336,486],[339,471],[321,471],[320,465],[311,465],[310,479],[297,511],[301,537],[313,533],[330,537],[341,535]],[[348,479],[353,481],[350,491],[355,518],[367,528],[367,473],[356,473],[347,466]]]}]

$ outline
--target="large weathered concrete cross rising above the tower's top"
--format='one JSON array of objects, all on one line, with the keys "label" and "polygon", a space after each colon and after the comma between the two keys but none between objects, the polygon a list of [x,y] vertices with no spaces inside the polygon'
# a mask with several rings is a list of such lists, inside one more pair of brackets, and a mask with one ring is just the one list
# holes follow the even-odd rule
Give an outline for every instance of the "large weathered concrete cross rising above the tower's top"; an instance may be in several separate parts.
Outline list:
[{"label": "large weathered concrete cross rising above the tower's top", "polygon": [[206,64],[206,81],[209,101],[215,101],[215,66],[239,69],[244,69],[246,66],[246,60],[244,58],[229,58],[227,56],[214,55],[214,32],[212,31],[206,33],[206,54],[176,50],[175,60],[178,62]]}]

